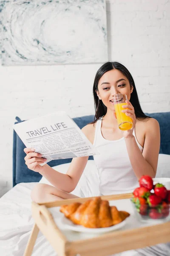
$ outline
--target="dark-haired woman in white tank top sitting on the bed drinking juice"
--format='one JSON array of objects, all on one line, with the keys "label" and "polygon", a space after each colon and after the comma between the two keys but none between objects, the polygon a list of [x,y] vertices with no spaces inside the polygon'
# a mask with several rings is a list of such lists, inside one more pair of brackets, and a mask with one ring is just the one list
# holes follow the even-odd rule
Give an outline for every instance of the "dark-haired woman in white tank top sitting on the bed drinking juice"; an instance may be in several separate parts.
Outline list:
[{"label": "dark-haired woman in white tank top sitting on the bed drinking juice", "polygon": [[[99,195],[132,192],[142,175],[155,177],[160,130],[156,119],[146,116],[140,107],[135,83],[126,67],[118,62],[107,62],[99,68],[94,79],[95,121],[82,128],[82,132],[99,151],[94,160],[99,175]],[[133,120],[127,131],[118,128],[113,97],[127,95],[124,112]],[[26,165],[39,172],[53,186],[37,184],[31,192],[33,201],[42,203],[77,196],[70,194],[85,169],[88,157],[74,158],[67,174],[56,172],[44,163],[41,154],[25,148]]]}]

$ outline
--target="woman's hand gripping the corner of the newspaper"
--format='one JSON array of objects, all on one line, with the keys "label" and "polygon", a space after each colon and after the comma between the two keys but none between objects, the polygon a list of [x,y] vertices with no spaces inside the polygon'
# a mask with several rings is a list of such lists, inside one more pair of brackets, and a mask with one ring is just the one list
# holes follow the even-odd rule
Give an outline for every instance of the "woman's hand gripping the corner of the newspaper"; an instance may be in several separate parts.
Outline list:
[{"label": "woman's hand gripping the corner of the newspaper", "polygon": [[24,160],[26,161],[28,169],[34,172],[40,172],[43,167],[40,166],[40,163],[44,163],[46,159],[42,158],[42,154],[36,153],[34,151],[34,148],[24,148],[24,152],[26,153],[26,157],[24,157]]}]

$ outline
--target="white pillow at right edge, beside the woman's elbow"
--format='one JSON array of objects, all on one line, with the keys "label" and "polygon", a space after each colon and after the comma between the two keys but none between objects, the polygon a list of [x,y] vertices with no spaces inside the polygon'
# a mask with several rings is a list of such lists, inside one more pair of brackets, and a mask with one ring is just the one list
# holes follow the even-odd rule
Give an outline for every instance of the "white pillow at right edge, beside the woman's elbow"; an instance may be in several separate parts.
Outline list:
[{"label": "white pillow at right edge, beside the woman's elbow", "polygon": [[170,155],[159,154],[156,177],[170,178]]}]

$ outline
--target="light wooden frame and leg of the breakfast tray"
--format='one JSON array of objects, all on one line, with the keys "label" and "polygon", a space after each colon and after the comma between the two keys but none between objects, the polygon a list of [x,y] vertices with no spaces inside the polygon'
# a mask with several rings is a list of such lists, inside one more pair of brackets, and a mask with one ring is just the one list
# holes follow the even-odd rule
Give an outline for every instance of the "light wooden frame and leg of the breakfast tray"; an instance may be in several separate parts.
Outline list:
[{"label": "light wooden frame and leg of the breakfast tray", "polygon": [[[103,200],[120,200],[131,198],[132,193],[101,196]],[[35,220],[24,256],[31,256],[39,230],[48,239],[58,256],[107,256],[125,250],[138,249],[170,241],[170,221],[147,227],[137,227],[128,230],[117,230],[104,233],[89,239],[68,241],[62,230],[57,227],[50,207],[72,204],[91,198],[75,198],[51,203],[36,204],[32,202],[32,216]]]}]

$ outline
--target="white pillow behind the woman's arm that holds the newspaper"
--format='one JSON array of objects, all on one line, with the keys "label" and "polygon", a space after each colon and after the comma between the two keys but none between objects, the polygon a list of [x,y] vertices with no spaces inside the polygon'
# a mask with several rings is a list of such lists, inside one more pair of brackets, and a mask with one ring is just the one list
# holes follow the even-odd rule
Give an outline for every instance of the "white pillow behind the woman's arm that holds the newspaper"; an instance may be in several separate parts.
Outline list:
[{"label": "white pillow behind the woman's arm that holds the newspaper", "polygon": [[[66,173],[70,163],[53,166],[57,172]],[[45,177],[42,177],[39,183],[44,183],[53,186]],[[79,182],[71,192],[71,194],[79,197],[91,197],[99,195],[99,174],[94,160],[88,160],[84,172],[79,179]]]}]

